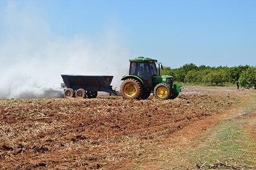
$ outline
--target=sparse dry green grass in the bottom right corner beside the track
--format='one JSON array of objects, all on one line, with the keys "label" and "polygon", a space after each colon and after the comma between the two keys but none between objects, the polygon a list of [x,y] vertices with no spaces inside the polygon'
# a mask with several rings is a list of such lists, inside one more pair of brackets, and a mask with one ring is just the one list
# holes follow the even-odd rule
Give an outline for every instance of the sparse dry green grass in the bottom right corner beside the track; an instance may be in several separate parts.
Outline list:
[{"label": "sparse dry green grass in the bottom right corner beside the track", "polygon": [[[255,106],[252,103],[243,110],[245,115],[252,111],[255,112]],[[203,169],[218,168],[215,165],[221,165],[222,168],[230,166],[255,169],[256,145],[253,136],[250,135],[252,132],[244,128],[248,121],[249,119],[241,116],[221,120],[205,135],[201,149],[190,161],[194,165],[204,165]],[[250,119],[250,121],[255,120]]]}]

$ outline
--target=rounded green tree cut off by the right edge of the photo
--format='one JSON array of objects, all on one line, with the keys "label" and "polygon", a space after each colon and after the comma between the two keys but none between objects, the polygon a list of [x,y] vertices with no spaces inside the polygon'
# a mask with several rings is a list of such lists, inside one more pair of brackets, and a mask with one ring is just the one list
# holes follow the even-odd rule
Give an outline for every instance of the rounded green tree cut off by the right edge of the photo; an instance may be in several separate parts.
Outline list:
[{"label": "rounded green tree cut off by the right edge of the photo", "polygon": [[239,84],[245,88],[254,86],[254,89],[256,89],[256,67],[249,67],[243,71],[239,78]]}]

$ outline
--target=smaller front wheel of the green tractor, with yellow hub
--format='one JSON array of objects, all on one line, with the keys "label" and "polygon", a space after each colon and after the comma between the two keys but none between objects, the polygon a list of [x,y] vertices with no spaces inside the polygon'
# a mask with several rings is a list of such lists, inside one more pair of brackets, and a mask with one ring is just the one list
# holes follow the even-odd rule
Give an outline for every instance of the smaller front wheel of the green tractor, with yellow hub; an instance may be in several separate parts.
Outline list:
[{"label": "smaller front wheel of the green tractor, with yellow hub", "polygon": [[154,93],[157,99],[170,99],[172,95],[172,88],[165,83],[159,83],[154,88]]}]

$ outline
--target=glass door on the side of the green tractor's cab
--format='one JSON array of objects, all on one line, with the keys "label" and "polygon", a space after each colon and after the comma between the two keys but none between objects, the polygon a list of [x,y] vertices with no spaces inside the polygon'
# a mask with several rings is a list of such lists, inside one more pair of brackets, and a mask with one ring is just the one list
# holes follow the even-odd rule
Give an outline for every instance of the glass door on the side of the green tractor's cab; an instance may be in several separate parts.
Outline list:
[{"label": "glass door on the side of the green tractor's cab", "polygon": [[151,86],[152,74],[148,62],[131,61],[129,75],[138,76],[146,86]]}]

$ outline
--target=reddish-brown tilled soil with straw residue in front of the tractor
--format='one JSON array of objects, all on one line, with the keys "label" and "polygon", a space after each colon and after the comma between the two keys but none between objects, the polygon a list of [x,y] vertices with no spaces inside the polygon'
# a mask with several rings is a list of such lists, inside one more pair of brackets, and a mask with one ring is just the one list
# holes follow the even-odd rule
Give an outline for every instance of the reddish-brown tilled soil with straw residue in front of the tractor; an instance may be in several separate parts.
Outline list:
[{"label": "reddish-brown tilled soil with straw residue in front of the tractor", "polygon": [[185,88],[166,101],[1,99],[0,167],[125,169],[174,132],[231,108],[238,98],[235,91]]}]

